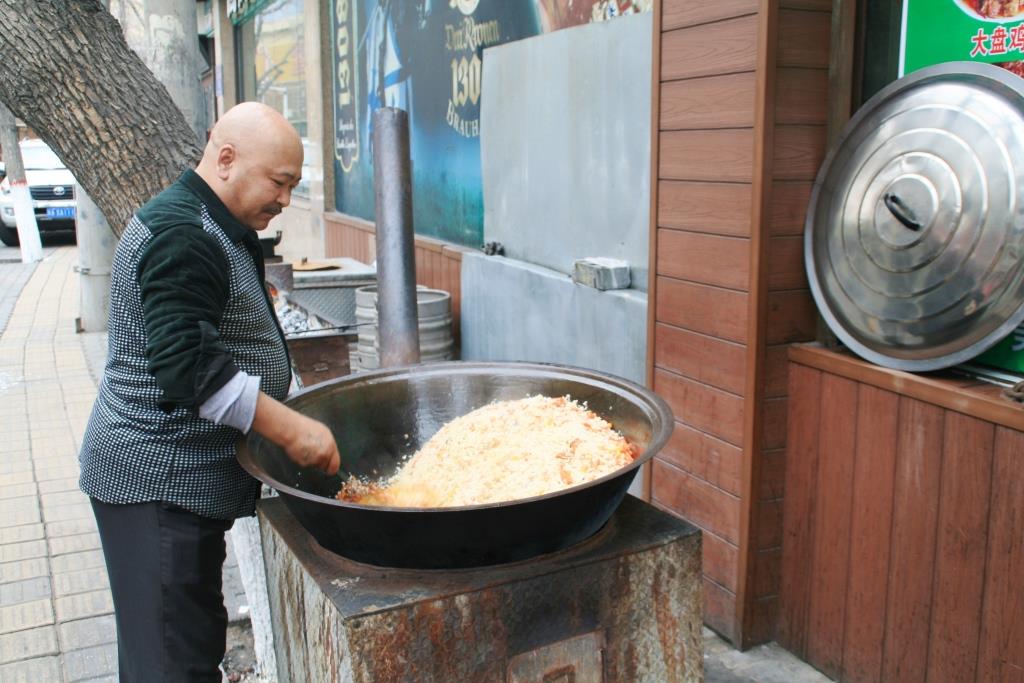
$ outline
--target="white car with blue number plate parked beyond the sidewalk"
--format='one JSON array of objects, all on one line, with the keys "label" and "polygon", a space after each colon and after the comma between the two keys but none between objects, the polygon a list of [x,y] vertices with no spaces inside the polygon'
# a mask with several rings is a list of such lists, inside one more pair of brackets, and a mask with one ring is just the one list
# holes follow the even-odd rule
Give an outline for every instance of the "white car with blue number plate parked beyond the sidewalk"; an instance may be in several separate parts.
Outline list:
[{"label": "white car with blue number plate parked beyond the sidewalk", "polygon": [[[74,233],[75,176],[42,140],[22,140],[19,146],[39,233]],[[8,247],[17,245],[14,196],[9,178],[0,181],[0,242]]]}]

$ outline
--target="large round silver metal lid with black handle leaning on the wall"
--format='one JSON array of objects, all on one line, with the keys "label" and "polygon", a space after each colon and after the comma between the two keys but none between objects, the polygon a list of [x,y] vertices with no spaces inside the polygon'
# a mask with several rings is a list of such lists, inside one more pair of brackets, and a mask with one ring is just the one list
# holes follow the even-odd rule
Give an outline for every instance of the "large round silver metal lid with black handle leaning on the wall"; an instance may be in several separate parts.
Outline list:
[{"label": "large round silver metal lid with black handle leaning on the wall", "polygon": [[937,370],[1005,338],[1024,321],[1024,80],[951,62],[872,97],[818,172],[804,256],[872,362]]}]

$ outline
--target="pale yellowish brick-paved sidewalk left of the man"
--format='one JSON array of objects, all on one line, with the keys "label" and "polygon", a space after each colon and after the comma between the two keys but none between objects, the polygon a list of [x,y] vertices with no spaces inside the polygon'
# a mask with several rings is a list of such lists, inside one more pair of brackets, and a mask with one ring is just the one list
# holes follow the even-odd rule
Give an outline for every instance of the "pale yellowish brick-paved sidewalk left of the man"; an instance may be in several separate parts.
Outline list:
[{"label": "pale yellowish brick-paved sidewalk left of the man", "polygon": [[106,572],[78,490],[78,449],[96,389],[75,334],[75,258],[59,249],[35,266],[0,336],[5,683],[116,680]]}]

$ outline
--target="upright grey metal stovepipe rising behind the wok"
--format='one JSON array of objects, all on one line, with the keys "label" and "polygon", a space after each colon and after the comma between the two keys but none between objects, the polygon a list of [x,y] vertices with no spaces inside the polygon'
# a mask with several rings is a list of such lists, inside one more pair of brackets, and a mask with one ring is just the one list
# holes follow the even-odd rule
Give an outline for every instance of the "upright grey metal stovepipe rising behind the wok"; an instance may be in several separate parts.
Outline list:
[{"label": "upright grey metal stovepipe rising behind the wok", "polygon": [[374,112],[373,126],[380,357],[385,367],[403,366],[420,360],[409,116],[385,106]]}]

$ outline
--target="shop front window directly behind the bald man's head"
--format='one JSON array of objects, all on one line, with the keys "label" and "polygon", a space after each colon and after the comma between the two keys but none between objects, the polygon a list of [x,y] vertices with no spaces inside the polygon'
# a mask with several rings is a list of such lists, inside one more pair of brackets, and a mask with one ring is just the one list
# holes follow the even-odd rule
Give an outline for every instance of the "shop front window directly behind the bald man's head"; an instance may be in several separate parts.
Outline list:
[{"label": "shop front window directly behind the bald man's head", "polygon": [[[272,106],[310,148],[306,117],[305,33],[303,0],[271,0],[237,28],[239,92],[245,101]],[[297,195],[309,195],[309,160],[302,168]]]}]

